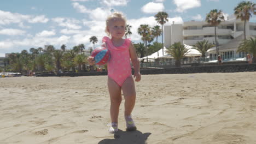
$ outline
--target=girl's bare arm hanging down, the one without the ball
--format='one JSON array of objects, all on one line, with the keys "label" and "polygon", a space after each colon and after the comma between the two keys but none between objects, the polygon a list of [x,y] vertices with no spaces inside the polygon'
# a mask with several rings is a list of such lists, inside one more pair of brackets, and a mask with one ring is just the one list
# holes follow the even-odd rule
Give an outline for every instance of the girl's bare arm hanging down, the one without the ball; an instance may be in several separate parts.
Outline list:
[{"label": "girl's bare arm hanging down, the one without the ball", "polygon": [[133,44],[131,43],[129,46],[129,51],[130,51],[130,58],[132,61],[132,65],[134,68],[134,75],[133,77],[135,77],[135,81],[140,81],[141,80],[141,66],[139,65],[139,60],[137,57],[137,53],[135,50],[135,47],[133,46]]}]

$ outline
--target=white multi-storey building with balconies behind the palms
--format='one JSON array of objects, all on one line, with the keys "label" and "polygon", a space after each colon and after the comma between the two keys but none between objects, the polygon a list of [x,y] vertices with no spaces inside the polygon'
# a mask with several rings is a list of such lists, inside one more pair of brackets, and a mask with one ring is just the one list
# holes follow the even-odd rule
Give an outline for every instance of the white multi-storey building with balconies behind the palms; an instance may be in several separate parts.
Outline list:
[{"label": "white multi-storey building with balconies behind the palms", "polygon": [[[236,20],[235,17],[221,22],[216,28],[219,53],[223,59],[234,59],[245,57],[245,53],[236,53],[237,47],[244,39],[244,22]],[[256,37],[256,23],[246,23],[247,37]],[[194,45],[197,41],[208,40],[216,44],[214,27],[205,21],[188,21],[183,24],[173,24],[164,27],[164,46],[169,47],[173,43],[181,42],[186,45]],[[216,57],[216,48],[208,51],[210,57]]]}]

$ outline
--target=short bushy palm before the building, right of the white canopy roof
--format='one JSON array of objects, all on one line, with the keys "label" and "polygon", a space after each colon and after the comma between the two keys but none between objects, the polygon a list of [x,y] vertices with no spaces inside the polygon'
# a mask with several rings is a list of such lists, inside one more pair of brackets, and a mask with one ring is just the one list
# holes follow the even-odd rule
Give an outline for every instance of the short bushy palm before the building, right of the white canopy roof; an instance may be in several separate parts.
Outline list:
[{"label": "short bushy palm before the building, right of the white canopy roof", "polygon": [[192,49],[196,49],[197,51],[202,53],[202,57],[205,58],[206,52],[209,49],[211,49],[211,47],[213,46],[214,46],[213,44],[208,43],[208,40],[203,40],[203,41],[197,41],[197,43],[195,44],[195,47],[193,47]]}]

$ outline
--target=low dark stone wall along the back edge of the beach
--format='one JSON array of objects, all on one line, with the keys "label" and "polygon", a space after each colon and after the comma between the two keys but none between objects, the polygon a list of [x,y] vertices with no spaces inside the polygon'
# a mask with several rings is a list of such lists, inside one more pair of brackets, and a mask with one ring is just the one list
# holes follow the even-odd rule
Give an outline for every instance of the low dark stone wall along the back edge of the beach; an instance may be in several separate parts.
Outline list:
[{"label": "low dark stone wall along the back edge of the beach", "polygon": [[[243,71],[256,71],[256,63],[253,64],[225,64],[225,65],[202,65],[197,67],[182,68],[158,68],[141,69],[142,75],[154,74],[189,74],[189,73],[235,73]],[[38,74],[37,76],[90,76],[107,75],[107,71],[85,73],[61,73],[61,74]]]}]

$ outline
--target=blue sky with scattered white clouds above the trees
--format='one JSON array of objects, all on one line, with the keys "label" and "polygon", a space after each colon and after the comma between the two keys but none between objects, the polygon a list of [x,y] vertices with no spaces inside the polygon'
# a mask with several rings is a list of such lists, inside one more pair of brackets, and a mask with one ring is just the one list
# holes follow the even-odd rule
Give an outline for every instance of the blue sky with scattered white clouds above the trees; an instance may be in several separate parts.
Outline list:
[{"label": "blue sky with scattered white clouds above the trees", "polygon": [[[91,36],[100,45],[105,20],[110,9],[121,11],[132,26],[130,36],[136,43],[141,37],[141,24],[156,25],[154,15],[166,11],[170,25],[184,21],[202,21],[211,9],[221,9],[226,16],[234,13],[238,0],[1,0],[0,2],[0,57],[4,53],[21,52],[31,47],[62,44],[71,49],[84,44],[92,47]],[[252,2],[256,2],[255,0]],[[256,17],[251,17],[256,22]]]}]

